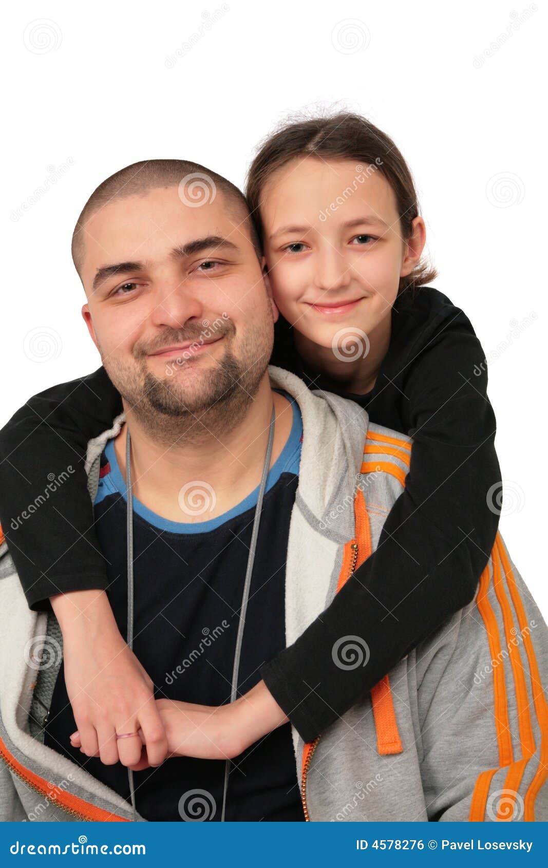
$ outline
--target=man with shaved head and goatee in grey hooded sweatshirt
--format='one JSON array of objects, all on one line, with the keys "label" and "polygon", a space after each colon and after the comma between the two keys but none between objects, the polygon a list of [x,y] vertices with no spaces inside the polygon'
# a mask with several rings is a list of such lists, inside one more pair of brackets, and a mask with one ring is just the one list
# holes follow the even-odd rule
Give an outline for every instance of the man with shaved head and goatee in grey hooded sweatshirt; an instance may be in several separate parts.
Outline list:
[{"label": "man with shaved head and goatee in grey hooded sweatshirt", "polygon": [[[215,179],[216,195],[182,207],[196,172]],[[533,819],[535,803],[545,819],[545,625],[499,536],[471,606],[313,745],[291,730],[257,669],[377,545],[411,441],[267,368],[277,314],[228,182],[152,161],[99,190],[74,253],[84,319],[124,416],[89,443],[89,493],[117,626],[133,634],[135,657],[161,691],[154,702],[143,689],[145,761],[135,721],[116,733],[119,746],[99,733],[102,761],[69,746],[69,599],[56,606],[63,666],[59,654],[35,682],[28,649],[40,637],[60,646],[58,625],[28,610],[4,543],[3,819],[32,813],[48,781],[56,799],[39,819],[496,819],[506,801],[512,819]],[[209,632],[215,641],[204,651]],[[341,669],[366,665],[366,643],[341,636],[335,656]],[[236,688],[241,700],[223,705]],[[243,700],[269,716],[264,739],[239,742]],[[38,707],[50,712],[43,744],[27,723]],[[129,776],[116,763],[122,753]]]}]

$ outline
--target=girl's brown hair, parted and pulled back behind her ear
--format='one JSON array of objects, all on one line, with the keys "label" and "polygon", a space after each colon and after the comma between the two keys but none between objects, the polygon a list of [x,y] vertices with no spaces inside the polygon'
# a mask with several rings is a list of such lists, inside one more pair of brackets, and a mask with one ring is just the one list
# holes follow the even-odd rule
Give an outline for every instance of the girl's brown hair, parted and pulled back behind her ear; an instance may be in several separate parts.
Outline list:
[{"label": "girl's brown hair, parted and pulled back behind her ear", "polygon": [[[300,156],[324,160],[355,160],[364,168],[374,166],[393,188],[403,240],[413,231],[419,201],[413,177],[392,139],[360,115],[340,113],[286,124],[262,142],[248,172],[249,210],[262,235],[261,194],[268,179],[287,162]],[[425,286],[438,272],[424,259],[413,272],[399,280],[398,294],[407,288]]]}]

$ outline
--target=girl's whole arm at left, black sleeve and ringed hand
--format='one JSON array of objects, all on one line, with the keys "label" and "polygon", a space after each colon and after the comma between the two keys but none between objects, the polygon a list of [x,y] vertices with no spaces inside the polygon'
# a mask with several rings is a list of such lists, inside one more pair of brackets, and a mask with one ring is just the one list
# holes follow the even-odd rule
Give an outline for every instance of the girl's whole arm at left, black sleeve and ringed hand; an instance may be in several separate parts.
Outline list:
[{"label": "girl's whole arm at left, black sleeve and ringed hand", "polygon": [[[120,635],[94,529],[84,469],[89,439],[108,430],[122,400],[103,368],[30,398],[0,431],[0,523],[30,608],[54,609],[65,681],[84,753],[135,762],[135,720],[155,765],[167,740],[154,686]],[[101,733],[98,739],[97,733]]]}]

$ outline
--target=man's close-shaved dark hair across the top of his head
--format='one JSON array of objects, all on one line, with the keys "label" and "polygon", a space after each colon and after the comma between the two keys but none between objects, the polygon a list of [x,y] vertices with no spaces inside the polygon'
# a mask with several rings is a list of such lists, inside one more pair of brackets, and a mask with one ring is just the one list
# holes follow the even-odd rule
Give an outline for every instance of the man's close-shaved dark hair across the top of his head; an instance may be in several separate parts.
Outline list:
[{"label": "man's close-shaved dark hair across the top of his head", "polygon": [[[182,184],[182,181],[184,183]],[[248,227],[249,237],[253,243],[257,256],[261,259],[261,240],[257,233],[254,220],[249,214],[248,203],[245,196],[231,181],[222,175],[212,172],[211,169],[201,166],[199,163],[188,160],[142,160],[132,163],[119,172],[111,174],[106,181],[94,190],[89,200],[83,207],[82,213],[76,221],[76,227],[72,234],[72,261],[76,271],[82,278],[82,266],[85,255],[86,223],[89,218],[96,214],[109,202],[117,199],[126,199],[129,196],[144,196],[149,190],[158,187],[175,187],[181,185],[180,195],[182,204],[188,207],[199,207],[201,204],[212,201],[220,190],[224,194],[228,207],[231,207],[234,215]]]}]

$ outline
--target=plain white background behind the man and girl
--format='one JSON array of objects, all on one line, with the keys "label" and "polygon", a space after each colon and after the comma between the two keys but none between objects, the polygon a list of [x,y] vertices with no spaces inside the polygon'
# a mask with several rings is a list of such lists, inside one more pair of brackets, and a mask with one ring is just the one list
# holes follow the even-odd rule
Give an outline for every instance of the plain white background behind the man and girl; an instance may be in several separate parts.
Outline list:
[{"label": "plain white background behind the man and girl", "polygon": [[524,0],[11,8],[0,424],[36,391],[100,365],[70,238],[109,174],[175,157],[241,186],[257,142],[287,115],[358,111],[406,157],[433,285],[484,347],[500,529],[546,618],[545,39],[545,10]]}]

